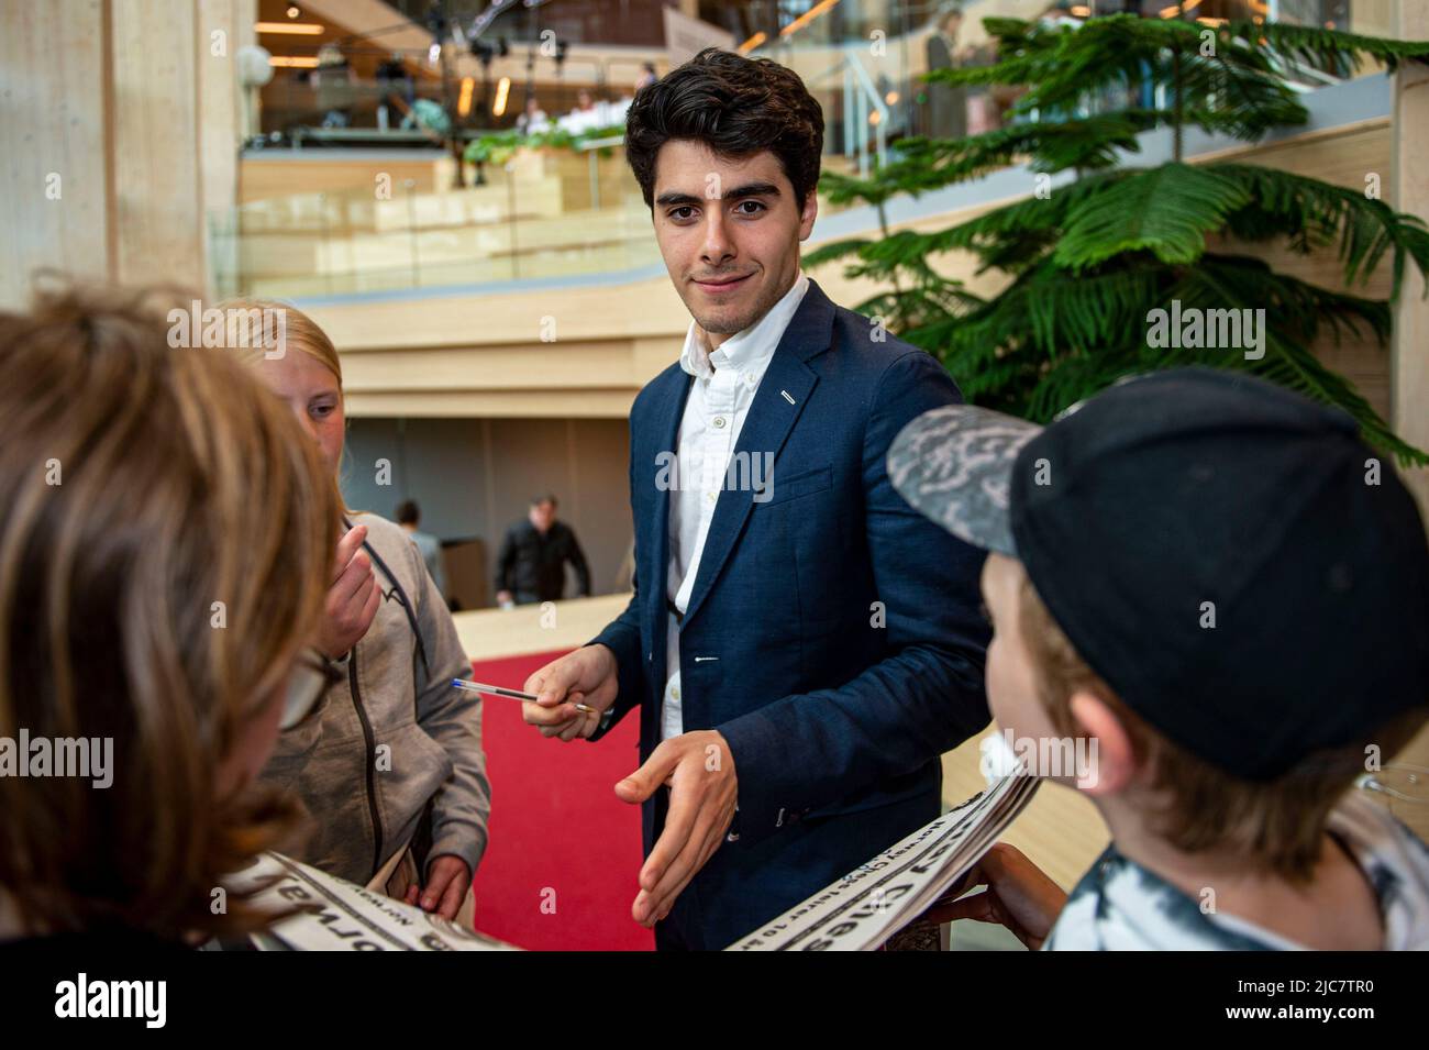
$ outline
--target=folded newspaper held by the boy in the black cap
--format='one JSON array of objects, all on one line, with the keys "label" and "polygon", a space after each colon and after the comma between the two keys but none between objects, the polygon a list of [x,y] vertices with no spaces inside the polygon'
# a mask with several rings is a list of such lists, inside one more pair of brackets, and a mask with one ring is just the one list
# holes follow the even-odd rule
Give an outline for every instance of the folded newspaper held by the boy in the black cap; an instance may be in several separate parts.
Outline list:
[{"label": "folded newspaper held by the boy in the black cap", "polygon": [[987,784],[873,860],[765,923],[726,951],[872,951],[937,903],[992,849],[1040,780]]}]

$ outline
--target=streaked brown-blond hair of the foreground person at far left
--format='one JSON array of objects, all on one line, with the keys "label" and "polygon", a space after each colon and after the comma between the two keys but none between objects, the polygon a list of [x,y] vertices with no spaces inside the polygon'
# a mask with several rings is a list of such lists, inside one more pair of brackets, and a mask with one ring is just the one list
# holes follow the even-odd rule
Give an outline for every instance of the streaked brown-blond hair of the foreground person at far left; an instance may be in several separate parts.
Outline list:
[{"label": "streaked brown-blond hair of the foreground person at far left", "polygon": [[252,929],[220,877],[292,803],[219,770],[317,621],[336,496],[292,413],[156,293],[0,314],[0,736],[110,739],[113,783],[0,777],[0,893],[29,931]]}]

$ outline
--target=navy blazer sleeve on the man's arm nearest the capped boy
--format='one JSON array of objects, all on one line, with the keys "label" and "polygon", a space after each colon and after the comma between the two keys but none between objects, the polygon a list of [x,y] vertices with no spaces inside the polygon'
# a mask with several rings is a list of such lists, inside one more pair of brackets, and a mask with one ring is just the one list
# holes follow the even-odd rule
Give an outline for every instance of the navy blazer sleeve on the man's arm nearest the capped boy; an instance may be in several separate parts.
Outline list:
[{"label": "navy blazer sleeve on the man's arm nearest the capped boy", "polygon": [[893,437],[929,409],[962,401],[922,350],[875,390],[863,441],[869,561],[889,654],[839,689],[787,696],[717,726],[739,777],[740,837],[912,773],[989,721],[979,613],[983,554],[913,510],[887,477]]}]

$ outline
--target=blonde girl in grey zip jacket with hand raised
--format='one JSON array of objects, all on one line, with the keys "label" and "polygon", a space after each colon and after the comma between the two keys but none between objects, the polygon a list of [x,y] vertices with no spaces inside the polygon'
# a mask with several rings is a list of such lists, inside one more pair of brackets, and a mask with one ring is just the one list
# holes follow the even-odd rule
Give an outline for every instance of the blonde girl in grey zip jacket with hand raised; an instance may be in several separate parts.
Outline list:
[{"label": "blonde girl in grey zip jacket with hand raised", "polygon": [[[332,340],[282,303],[221,306],[229,346],[246,349],[337,477],[346,421]],[[263,350],[264,310],[284,319],[276,351]],[[319,644],[343,680],[320,717],[279,739],[263,779],[296,791],[314,820],[299,860],[470,929],[492,809],[482,701],[452,687],[472,664],[407,533],[350,510],[342,527]]]}]

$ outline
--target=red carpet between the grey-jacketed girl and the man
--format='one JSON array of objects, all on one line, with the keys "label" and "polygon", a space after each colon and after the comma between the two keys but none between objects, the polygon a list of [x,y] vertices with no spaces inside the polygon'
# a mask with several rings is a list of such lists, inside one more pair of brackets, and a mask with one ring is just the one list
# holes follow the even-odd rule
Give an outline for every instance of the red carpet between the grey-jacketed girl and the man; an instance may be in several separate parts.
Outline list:
[{"label": "red carpet between the grey-jacketed girl and the man", "polygon": [[[477,681],[520,689],[557,656],[472,667]],[[476,929],[533,950],[652,950],[654,934],[630,919],[640,809],[614,794],[639,764],[636,713],[596,744],[563,744],[523,723],[514,700],[486,697],[482,709],[492,821],[473,887]]]}]

